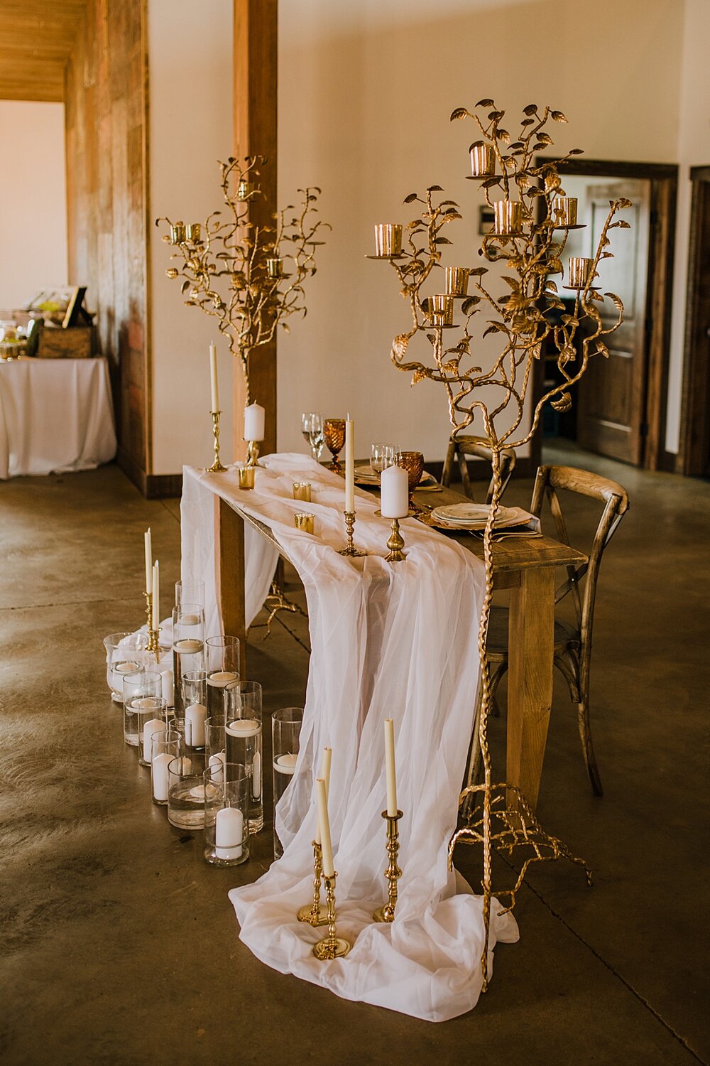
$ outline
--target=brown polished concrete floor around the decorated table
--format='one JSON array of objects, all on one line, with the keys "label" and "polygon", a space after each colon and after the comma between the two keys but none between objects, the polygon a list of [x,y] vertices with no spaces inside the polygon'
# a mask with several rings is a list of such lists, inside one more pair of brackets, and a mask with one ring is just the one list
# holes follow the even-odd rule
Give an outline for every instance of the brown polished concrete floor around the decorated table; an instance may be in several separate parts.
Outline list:
[{"label": "brown polished concrete floor around the decorated table", "polygon": [[[142,621],[148,524],[169,596],[177,501],[143,500],[115,467],[0,485],[3,1064],[708,1061],[710,486],[579,465],[622,481],[632,501],[596,610],[606,794],[590,792],[557,678],[539,813],[589,859],[595,885],[561,863],[533,871],[516,908],[519,943],[496,949],[476,1010],[439,1025],[257,962],[227,891],[266,869],[268,827],[250,862],[218,871],[151,805],[106,693],[101,637]],[[506,502],[529,494],[530,482],[513,482]],[[572,508],[573,531],[588,510]],[[262,634],[252,631],[249,673],[265,711],[301,704],[304,624],[287,616]],[[496,752],[503,728],[493,721]],[[475,881],[477,855],[459,851]]]}]

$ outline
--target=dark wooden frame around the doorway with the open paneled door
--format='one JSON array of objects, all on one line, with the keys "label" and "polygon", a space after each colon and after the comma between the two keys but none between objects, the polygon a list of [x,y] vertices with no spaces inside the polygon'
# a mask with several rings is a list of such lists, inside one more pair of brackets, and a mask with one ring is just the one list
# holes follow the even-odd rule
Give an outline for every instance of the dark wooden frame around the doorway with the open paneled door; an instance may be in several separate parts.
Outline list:
[{"label": "dark wooden frame around the doorway with the open paneled door", "polygon": [[[555,162],[535,158],[535,166]],[[650,233],[646,288],[645,442],[642,466],[647,470],[675,469],[675,455],[665,451],[665,417],[671,353],[671,311],[676,235],[678,166],[676,163],[630,163],[622,160],[571,159],[561,167],[566,175],[589,178],[633,178],[650,182]],[[543,394],[544,367],[535,367],[534,394]],[[542,457],[542,421],[530,441],[533,466]]]}]

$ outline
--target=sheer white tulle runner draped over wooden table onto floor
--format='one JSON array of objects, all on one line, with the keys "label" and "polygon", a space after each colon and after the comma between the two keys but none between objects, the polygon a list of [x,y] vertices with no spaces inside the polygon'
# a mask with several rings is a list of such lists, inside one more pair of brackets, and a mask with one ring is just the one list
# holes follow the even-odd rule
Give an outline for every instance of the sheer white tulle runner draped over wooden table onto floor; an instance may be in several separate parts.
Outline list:
[{"label": "sheer white tulle runner draped over wooden table onto floor", "polygon": [[[276,815],[284,854],[258,882],[230,892],[241,938],[268,966],[346,999],[430,1021],[456,1017],[476,1004],[481,988],[481,899],[448,872],[446,859],[479,682],[483,564],[413,520],[402,522],[406,562],[386,563],[390,523],[375,517],[377,501],[363,492],[357,497],[356,543],[370,554],[339,555],[342,479],[303,455],[270,455],[263,463],[253,491],[236,487],[235,472],[186,468],[182,504],[183,552],[193,552],[183,555],[183,574],[198,556],[214,559],[209,490],[270,528],[308,598],[312,651],[300,752]],[[294,480],[311,481],[311,504],[293,499]],[[315,515],[315,535],[294,528],[293,515],[302,510]],[[212,543],[198,524],[212,524]],[[247,532],[253,534],[245,547],[253,604],[266,595],[275,560],[265,563],[273,548],[249,527]],[[201,572],[209,600],[204,566]],[[403,875],[394,922],[376,924],[371,912],[386,898],[385,717],[395,722]],[[354,942],[346,958],[323,963],[312,948],[325,930],[298,922],[296,911],[312,897],[313,780],[325,745],[333,749],[329,808],[337,925]],[[491,963],[496,940],[517,939],[512,916],[497,911],[494,901]]]}]

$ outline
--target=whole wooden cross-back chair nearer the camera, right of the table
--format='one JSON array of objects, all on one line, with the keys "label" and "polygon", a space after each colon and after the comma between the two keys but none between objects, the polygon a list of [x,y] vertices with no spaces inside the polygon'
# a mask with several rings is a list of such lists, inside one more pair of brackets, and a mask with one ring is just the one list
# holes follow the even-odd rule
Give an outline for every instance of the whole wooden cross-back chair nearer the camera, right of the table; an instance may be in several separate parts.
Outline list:
[{"label": "whole wooden cross-back chair nearer the camera, right of the table", "polygon": [[[560,489],[579,492],[581,496],[604,503],[604,511],[589,554],[589,562],[580,566],[567,566],[566,581],[555,593],[556,604],[566,596],[572,596],[575,607],[575,623],[569,624],[558,617],[555,618],[555,665],[567,682],[569,698],[577,707],[584,763],[592,782],[592,790],[595,795],[600,796],[604,794],[604,790],[592,744],[589,699],[594,601],[601,556],[616,527],[629,508],[629,498],[626,490],[615,481],[601,478],[588,470],[564,466],[539,467],[530,511],[540,518],[543,501],[546,497],[555,521],[557,538],[566,545],[569,545],[569,537],[558,497]],[[508,669],[507,608],[494,607],[492,609],[486,658],[491,671],[491,691],[495,697],[498,683]],[[468,765],[469,785],[478,776],[479,763],[480,753],[476,730]]]}]

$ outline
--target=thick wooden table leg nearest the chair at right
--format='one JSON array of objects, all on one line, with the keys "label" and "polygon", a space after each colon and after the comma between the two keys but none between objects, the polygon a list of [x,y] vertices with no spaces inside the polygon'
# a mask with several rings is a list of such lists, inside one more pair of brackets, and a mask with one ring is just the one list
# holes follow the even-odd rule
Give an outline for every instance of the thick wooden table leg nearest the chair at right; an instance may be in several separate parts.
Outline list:
[{"label": "thick wooden table leg nearest the chair at right", "polygon": [[555,568],[522,570],[510,604],[506,779],[521,789],[532,810],[552,704],[554,641]]}]

